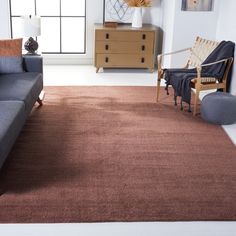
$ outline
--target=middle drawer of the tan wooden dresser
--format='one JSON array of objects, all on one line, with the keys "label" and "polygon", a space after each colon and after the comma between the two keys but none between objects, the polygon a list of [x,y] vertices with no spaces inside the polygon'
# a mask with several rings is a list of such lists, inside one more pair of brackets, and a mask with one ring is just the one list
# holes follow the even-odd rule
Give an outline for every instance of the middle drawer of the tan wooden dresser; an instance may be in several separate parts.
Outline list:
[{"label": "middle drawer of the tan wooden dresser", "polygon": [[147,42],[97,41],[96,53],[153,53],[153,44]]}]

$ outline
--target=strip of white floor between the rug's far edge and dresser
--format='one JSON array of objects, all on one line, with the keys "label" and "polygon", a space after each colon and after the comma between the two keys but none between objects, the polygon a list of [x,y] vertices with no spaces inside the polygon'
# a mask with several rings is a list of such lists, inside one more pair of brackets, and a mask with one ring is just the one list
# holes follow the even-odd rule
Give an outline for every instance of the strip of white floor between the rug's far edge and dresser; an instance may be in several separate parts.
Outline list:
[{"label": "strip of white floor between the rug's far edge and dresser", "polygon": [[44,83],[46,86],[153,86],[156,84],[156,73],[142,69],[101,69],[96,73],[95,67],[89,65],[44,66]]}]

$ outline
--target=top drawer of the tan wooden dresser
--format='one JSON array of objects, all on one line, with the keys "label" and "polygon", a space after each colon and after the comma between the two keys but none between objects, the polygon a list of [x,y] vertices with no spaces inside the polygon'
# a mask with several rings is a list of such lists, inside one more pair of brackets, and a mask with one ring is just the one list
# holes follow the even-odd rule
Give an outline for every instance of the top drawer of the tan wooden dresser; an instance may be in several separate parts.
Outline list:
[{"label": "top drawer of the tan wooden dresser", "polygon": [[96,30],[96,40],[124,42],[154,42],[154,32]]}]

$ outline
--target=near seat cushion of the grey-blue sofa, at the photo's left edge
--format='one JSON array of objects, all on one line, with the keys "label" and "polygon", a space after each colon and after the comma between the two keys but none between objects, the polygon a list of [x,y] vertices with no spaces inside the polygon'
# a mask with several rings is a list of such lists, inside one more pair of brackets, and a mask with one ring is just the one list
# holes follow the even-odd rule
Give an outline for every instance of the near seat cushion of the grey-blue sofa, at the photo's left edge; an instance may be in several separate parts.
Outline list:
[{"label": "near seat cushion of the grey-blue sofa, at the photo's left edge", "polygon": [[0,168],[25,122],[25,105],[20,101],[0,101]]}]

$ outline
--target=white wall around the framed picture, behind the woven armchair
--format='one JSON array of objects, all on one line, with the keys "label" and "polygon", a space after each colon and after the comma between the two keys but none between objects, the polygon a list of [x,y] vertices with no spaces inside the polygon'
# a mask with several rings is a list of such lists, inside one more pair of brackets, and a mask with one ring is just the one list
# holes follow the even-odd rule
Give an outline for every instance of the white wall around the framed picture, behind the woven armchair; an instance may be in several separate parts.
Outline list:
[{"label": "white wall around the framed picture, behind the woven armchair", "polygon": [[[213,11],[210,12],[182,11],[182,0],[175,0],[175,4],[173,4],[173,0],[164,1],[167,5],[163,8],[165,20],[169,16],[170,18],[173,18],[171,20],[174,24],[171,25],[171,27],[170,23],[167,25],[163,24],[164,32],[168,32],[168,40],[165,40],[166,45],[164,50],[168,49],[168,51],[175,51],[182,48],[191,47],[197,36],[207,39],[215,39],[219,1],[221,0],[214,1],[215,4]],[[165,60],[164,62],[165,66],[178,67],[183,66],[186,59],[187,54],[178,54],[171,57],[171,59]]]}]

